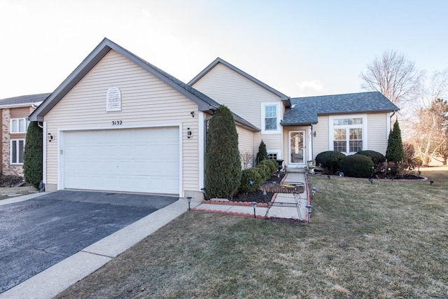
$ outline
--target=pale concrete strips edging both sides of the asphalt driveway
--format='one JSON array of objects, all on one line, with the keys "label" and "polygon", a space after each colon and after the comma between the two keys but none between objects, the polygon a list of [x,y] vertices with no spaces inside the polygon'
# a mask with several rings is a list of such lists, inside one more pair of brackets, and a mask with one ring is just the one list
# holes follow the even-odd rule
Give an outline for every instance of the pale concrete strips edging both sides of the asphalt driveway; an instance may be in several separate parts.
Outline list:
[{"label": "pale concrete strips edging both sides of the asphalt driveway", "polygon": [[[15,197],[7,202],[2,200],[0,204],[29,200],[43,194],[45,193]],[[194,207],[200,202],[192,201],[191,204]],[[10,288],[1,293],[0,298],[53,298],[187,210],[188,202],[181,198]]]}]

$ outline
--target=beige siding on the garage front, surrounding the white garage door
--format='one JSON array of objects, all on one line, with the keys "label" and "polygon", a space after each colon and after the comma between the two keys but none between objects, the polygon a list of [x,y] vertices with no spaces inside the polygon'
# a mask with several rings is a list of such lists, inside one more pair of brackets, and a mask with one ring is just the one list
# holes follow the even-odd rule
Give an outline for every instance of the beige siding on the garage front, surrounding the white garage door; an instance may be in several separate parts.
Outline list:
[{"label": "beige siding on the garage front, surrounding the white garage door", "polygon": [[[106,112],[106,91],[112,86],[120,88],[122,111]],[[183,190],[199,190],[198,118],[193,118],[190,111],[197,111],[197,104],[111,50],[45,116],[47,132],[55,137],[47,143],[45,183],[57,184],[58,130],[181,124]],[[113,120],[122,120],[123,125],[112,125]],[[186,137],[187,127],[193,132],[190,139]]]}]

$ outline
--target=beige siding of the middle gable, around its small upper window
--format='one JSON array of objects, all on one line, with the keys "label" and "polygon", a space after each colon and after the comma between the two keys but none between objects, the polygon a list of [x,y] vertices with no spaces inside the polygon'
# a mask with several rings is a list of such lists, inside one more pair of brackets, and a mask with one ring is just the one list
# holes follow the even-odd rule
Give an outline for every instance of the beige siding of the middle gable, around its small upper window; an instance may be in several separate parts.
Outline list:
[{"label": "beige siding of the middle gable, around its small upper window", "polygon": [[[232,112],[260,129],[261,103],[280,103],[282,113],[284,111],[280,97],[221,63],[200,78],[193,88],[200,90],[219,104],[228,106]],[[278,117],[282,116],[283,114]],[[267,149],[279,149],[281,136],[281,130],[279,134],[255,133],[254,146],[258,149],[260,141],[263,140]],[[281,155],[283,156],[283,153]]]}]

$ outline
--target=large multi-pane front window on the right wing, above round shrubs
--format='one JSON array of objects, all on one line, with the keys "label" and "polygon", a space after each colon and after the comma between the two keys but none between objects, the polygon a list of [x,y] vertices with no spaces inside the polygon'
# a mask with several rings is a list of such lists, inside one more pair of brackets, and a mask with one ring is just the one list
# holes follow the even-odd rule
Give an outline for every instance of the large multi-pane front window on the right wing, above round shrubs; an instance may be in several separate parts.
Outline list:
[{"label": "large multi-pane front window on the right wing, above round shrubs", "polygon": [[333,118],[331,124],[332,149],[334,151],[340,151],[346,154],[363,151],[363,132],[365,125],[363,117]]}]

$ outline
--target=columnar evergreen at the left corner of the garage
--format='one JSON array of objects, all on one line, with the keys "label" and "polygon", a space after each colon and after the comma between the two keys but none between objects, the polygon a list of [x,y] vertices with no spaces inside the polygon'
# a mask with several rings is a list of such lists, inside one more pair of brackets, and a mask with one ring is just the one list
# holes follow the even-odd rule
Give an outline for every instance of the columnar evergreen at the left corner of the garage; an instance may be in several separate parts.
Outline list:
[{"label": "columnar evergreen at the left corner of the garage", "polygon": [[23,174],[25,181],[38,188],[42,181],[42,128],[37,122],[29,123],[27,142],[23,156]]}]

